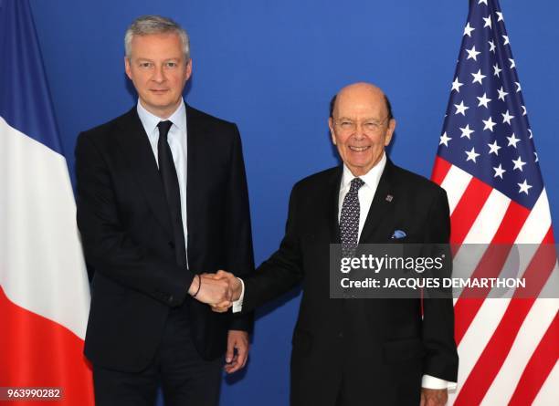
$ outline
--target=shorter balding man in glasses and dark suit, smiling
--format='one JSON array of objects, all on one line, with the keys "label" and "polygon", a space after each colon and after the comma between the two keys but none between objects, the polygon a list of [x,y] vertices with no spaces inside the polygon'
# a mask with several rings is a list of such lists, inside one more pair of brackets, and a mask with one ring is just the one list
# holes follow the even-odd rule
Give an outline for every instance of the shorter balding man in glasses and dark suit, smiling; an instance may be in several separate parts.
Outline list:
[{"label": "shorter balding man in glasses and dark suit, smiling", "polygon": [[386,157],[396,120],[379,88],[343,88],[329,127],[343,166],[295,184],[280,249],[242,278],[244,286],[223,271],[216,278],[230,281],[242,311],[302,283],[292,405],[443,405],[458,372],[452,301],[332,299],[329,248],[404,235],[401,242],[448,243],[446,193]]}]

